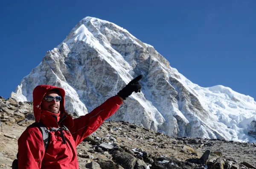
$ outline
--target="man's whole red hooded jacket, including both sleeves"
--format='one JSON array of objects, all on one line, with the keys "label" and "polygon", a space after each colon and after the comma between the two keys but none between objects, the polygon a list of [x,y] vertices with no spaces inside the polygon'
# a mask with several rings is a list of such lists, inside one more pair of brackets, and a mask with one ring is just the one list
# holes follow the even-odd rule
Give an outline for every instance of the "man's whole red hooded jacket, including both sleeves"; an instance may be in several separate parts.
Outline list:
[{"label": "man's whole red hooded jacket, including both sleeves", "polygon": [[98,129],[104,120],[113,115],[122,103],[116,95],[87,115],[73,120],[65,112],[64,89],[48,85],[37,86],[33,92],[35,121],[44,123],[48,129],[58,128],[58,123],[54,116],[47,113],[41,114],[40,105],[44,95],[52,89],[58,89],[59,95],[62,97],[59,126],[63,124],[70,130],[70,132],[63,130],[66,143],[63,143],[60,131],[50,132],[49,146],[45,151],[40,130],[35,126],[27,128],[18,140],[19,169],[79,169],[76,146]]}]

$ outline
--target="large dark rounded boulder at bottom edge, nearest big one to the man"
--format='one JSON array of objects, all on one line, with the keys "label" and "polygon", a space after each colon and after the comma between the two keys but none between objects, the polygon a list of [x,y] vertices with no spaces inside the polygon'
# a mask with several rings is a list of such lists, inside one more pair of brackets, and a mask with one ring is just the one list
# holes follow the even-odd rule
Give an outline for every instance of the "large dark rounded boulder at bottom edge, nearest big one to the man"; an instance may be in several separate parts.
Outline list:
[{"label": "large dark rounded boulder at bottom edge, nearest big one to the man", "polygon": [[133,169],[137,159],[128,152],[113,152],[113,160],[121,165],[124,169]]}]

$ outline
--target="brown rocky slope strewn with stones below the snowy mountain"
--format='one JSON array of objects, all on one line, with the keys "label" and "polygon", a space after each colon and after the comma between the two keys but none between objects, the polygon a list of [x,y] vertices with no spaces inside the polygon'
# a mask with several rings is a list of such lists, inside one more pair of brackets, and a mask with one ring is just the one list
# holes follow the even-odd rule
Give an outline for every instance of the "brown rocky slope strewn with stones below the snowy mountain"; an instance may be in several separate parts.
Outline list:
[{"label": "brown rocky slope strewn with stones below the snowy mountain", "polygon": [[[31,102],[0,97],[0,169],[11,166],[17,139],[33,122]],[[255,150],[254,143],[170,137],[125,121],[105,121],[77,147],[81,169],[256,169]]]}]

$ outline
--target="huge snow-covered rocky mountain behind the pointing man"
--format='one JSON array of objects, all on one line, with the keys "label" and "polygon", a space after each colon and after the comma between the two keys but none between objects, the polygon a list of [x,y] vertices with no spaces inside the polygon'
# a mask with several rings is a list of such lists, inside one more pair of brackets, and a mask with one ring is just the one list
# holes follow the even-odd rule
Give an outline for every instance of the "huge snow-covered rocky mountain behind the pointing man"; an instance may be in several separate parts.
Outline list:
[{"label": "huge snow-covered rocky mountain behind the pointing man", "polygon": [[32,101],[35,86],[66,90],[66,109],[84,115],[143,74],[142,92],[131,95],[108,120],[137,123],[171,136],[255,141],[256,102],[225,86],[192,83],[127,30],[85,17],[67,38],[21,80],[11,97]]}]

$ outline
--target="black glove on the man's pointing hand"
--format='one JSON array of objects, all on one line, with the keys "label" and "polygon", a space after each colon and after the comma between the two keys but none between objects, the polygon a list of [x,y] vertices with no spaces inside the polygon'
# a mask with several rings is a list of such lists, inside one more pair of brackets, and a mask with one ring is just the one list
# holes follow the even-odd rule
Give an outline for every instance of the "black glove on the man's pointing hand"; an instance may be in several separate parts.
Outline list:
[{"label": "black glove on the man's pointing hand", "polygon": [[126,98],[132,94],[132,92],[140,92],[142,86],[140,85],[139,80],[142,79],[142,77],[143,75],[140,75],[134,80],[131,80],[122,90],[117,93],[117,95],[126,100]]}]

